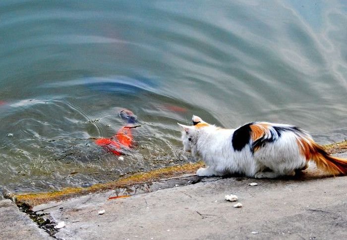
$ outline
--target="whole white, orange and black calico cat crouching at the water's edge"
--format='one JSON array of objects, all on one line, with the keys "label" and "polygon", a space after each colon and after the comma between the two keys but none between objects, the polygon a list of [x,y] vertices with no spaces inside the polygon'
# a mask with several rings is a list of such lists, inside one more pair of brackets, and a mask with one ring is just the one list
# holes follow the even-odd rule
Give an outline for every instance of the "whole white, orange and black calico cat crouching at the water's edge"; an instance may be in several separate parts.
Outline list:
[{"label": "whole white, orange and black calico cat crouching at the water's edge", "polygon": [[347,159],[329,155],[304,130],[269,122],[252,122],[237,129],[223,129],[192,118],[193,126],[182,128],[185,151],[203,160],[201,177],[242,174],[252,178],[294,176],[314,161],[317,167],[335,175],[347,175]]}]

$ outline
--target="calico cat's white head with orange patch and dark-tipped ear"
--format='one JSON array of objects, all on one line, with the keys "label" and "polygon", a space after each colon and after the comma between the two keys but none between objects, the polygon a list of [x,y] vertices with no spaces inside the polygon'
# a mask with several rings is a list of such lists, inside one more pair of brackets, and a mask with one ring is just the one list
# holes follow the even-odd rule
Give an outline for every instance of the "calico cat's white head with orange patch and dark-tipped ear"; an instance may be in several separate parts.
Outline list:
[{"label": "calico cat's white head with orange patch and dark-tipped ear", "polygon": [[187,152],[191,152],[193,145],[196,144],[199,136],[199,129],[209,126],[209,124],[203,121],[200,117],[194,115],[192,117],[192,122],[193,126],[186,126],[177,123],[182,128],[183,150]]}]

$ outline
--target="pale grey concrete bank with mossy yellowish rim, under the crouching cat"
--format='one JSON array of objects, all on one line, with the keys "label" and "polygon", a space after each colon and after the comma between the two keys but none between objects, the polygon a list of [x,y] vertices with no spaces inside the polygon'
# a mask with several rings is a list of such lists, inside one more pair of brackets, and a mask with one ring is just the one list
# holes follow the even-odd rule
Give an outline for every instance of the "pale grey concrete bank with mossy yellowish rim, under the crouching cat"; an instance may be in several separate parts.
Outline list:
[{"label": "pale grey concrete bank with mossy yellowish rim, under the crouching cat", "polygon": [[[326,149],[347,158],[346,146],[345,141]],[[121,188],[108,185],[90,192],[72,191],[59,195],[60,199],[40,198],[40,194],[12,198],[20,199],[18,206],[27,204],[37,222],[66,224],[46,230],[51,237],[37,227],[36,239],[343,238],[347,177],[328,177],[310,166],[304,174],[286,179],[199,178],[192,172],[201,164],[137,174],[118,182],[118,186],[124,184]],[[248,186],[251,182],[258,186]],[[231,193],[238,196],[242,208],[233,208],[234,203],[224,200]],[[5,203],[0,210],[23,214],[12,203]],[[101,210],[105,210],[102,215]],[[4,217],[0,219],[2,233],[6,229],[15,233],[16,227],[5,224]],[[0,238],[6,239],[2,233]]]}]

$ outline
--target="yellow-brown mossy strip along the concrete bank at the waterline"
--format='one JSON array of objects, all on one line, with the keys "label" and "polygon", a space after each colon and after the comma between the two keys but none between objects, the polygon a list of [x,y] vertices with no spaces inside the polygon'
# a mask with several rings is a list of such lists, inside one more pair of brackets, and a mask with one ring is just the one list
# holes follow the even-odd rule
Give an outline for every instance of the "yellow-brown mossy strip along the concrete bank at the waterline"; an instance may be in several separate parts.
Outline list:
[{"label": "yellow-brown mossy strip along the concrete bank at the waterline", "polygon": [[[347,151],[347,140],[340,143],[333,143],[323,145],[324,149],[329,154],[341,153]],[[151,184],[163,180],[174,180],[183,177],[187,174],[194,174],[198,168],[204,166],[203,162],[197,163],[187,163],[179,166],[165,167],[150,172],[135,173],[130,176],[120,178],[116,181],[95,184],[87,188],[65,188],[60,191],[54,192],[40,192],[40,193],[21,193],[14,194],[11,192],[4,192],[4,197],[11,199],[18,206],[25,204],[31,207],[47,203],[51,201],[61,201],[67,198],[90,194],[94,192],[106,192],[116,189],[136,189],[142,188],[145,184]],[[194,183],[195,180],[185,178],[186,183],[183,185],[188,185]],[[191,183],[189,183],[191,182]],[[170,187],[170,184],[168,185]],[[136,191],[134,191],[136,193]],[[134,193],[134,194],[135,194]],[[121,197],[122,194],[117,197]],[[123,194],[123,196],[126,196]]]}]

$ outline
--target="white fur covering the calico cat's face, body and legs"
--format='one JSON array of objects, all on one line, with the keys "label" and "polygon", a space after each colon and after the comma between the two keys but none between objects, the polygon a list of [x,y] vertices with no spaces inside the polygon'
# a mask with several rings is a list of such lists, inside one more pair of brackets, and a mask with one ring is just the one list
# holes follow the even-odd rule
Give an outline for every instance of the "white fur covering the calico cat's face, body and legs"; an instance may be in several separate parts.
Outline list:
[{"label": "white fur covering the calico cat's face, body and legs", "polygon": [[[291,127],[284,124],[271,126]],[[180,124],[179,124],[180,125]],[[298,135],[285,131],[273,143],[266,143],[254,152],[250,144],[242,150],[234,150],[231,144],[235,129],[221,129],[214,125],[196,128],[180,125],[185,151],[203,160],[207,167],[197,171],[198,176],[223,176],[243,174],[254,178],[276,178],[295,174],[295,170],[305,168],[307,161],[297,145]],[[308,137],[304,135],[302,137]],[[192,141],[188,141],[191,138]],[[269,171],[270,169],[270,171]]]}]

